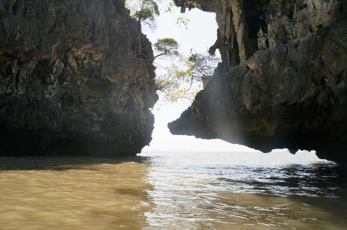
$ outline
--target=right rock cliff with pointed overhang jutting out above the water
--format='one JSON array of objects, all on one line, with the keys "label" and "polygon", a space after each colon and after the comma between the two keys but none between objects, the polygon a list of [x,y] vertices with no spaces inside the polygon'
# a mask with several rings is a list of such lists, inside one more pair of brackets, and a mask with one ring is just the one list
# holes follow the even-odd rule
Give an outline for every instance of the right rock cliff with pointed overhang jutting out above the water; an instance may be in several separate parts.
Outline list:
[{"label": "right rock cliff with pointed overhang jutting out above the water", "polygon": [[170,132],[346,165],[346,2],[198,2],[217,14],[210,53],[219,48],[222,63]]}]

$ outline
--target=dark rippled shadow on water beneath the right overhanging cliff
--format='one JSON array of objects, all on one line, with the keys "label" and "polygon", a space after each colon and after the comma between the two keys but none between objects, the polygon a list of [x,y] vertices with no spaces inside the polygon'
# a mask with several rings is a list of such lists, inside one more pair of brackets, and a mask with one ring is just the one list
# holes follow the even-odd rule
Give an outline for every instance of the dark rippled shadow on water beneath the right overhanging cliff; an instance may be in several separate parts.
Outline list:
[{"label": "dark rippled shadow on water beneath the right overhanging cliff", "polygon": [[[247,192],[280,196],[345,196],[347,188],[346,168],[335,163],[291,164],[284,166],[239,166],[238,174],[223,173],[220,185],[231,186]],[[221,175],[221,174],[219,174]],[[237,177],[237,178],[235,178]]]}]

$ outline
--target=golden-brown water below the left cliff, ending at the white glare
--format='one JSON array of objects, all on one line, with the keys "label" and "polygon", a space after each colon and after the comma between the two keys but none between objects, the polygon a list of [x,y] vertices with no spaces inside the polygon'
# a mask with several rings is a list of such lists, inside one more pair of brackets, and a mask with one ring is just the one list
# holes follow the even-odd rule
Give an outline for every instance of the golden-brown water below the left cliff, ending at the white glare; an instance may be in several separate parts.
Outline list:
[{"label": "golden-brown water below the left cliff, ending at the white glare", "polygon": [[1,158],[0,229],[142,229],[150,166],[131,160]]}]

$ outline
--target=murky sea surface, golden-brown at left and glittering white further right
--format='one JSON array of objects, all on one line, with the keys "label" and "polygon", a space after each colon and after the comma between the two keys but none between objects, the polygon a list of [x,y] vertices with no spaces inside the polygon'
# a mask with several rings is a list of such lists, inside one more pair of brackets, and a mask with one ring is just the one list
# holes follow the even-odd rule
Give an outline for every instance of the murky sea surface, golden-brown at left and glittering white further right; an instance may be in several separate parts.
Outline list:
[{"label": "murky sea surface, golden-brown at left and glittering white further right", "polygon": [[1,230],[346,230],[347,173],[314,153],[0,157]]}]

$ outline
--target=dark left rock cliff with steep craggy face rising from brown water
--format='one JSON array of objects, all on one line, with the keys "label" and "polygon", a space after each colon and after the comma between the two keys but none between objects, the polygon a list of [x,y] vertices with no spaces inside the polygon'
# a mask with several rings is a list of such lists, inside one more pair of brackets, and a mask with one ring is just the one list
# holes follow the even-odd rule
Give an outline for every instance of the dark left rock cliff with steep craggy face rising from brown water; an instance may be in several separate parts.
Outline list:
[{"label": "dark left rock cliff with steep craggy face rising from brown water", "polygon": [[128,156],[149,144],[153,51],[124,1],[5,0],[0,20],[1,155]]}]

